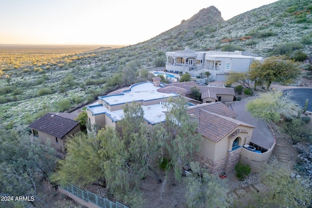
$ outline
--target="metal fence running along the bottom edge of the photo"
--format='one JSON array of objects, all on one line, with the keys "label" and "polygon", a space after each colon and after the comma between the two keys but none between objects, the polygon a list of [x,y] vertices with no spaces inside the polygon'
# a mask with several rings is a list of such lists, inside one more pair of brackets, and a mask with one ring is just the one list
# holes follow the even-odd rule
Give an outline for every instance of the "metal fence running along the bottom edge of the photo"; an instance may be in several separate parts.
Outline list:
[{"label": "metal fence running along the bottom edge of the photo", "polygon": [[83,201],[92,202],[93,204],[101,208],[128,208],[127,206],[124,206],[123,204],[120,204],[118,202],[114,203],[108,199],[101,198],[98,195],[91,193],[90,191],[84,191],[72,184],[66,183],[66,185],[63,185],[63,186],[60,185],[60,187],[74,194],[75,196],[82,199]]}]

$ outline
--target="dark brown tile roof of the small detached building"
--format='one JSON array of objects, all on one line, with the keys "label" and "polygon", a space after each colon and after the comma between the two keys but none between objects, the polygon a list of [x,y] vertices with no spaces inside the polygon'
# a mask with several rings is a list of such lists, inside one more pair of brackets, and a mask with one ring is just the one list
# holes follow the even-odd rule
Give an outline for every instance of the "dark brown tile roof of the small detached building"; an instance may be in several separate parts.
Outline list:
[{"label": "dark brown tile roof of the small detached building", "polygon": [[63,138],[77,125],[79,125],[79,123],[74,120],[63,118],[52,113],[47,113],[29,125],[29,127],[57,138]]}]

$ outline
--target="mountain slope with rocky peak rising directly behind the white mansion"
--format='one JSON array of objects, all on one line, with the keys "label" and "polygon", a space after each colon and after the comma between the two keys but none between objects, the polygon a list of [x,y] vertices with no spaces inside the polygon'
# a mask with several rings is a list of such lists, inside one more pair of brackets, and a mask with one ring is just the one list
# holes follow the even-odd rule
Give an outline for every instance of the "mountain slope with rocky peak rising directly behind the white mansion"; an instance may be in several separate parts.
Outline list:
[{"label": "mountain slope with rocky peak rising directly behind the white mansion", "polygon": [[178,51],[185,46],[199,51],[234,48],[264,57],[291,56],[301,50],[311,57],[311,11],[311,0],[279,0],[224,21],[220,11],[210,6],[148,41],[114,53],[140,54],[136,62],[144,68],[153,67],[157,51]]}]

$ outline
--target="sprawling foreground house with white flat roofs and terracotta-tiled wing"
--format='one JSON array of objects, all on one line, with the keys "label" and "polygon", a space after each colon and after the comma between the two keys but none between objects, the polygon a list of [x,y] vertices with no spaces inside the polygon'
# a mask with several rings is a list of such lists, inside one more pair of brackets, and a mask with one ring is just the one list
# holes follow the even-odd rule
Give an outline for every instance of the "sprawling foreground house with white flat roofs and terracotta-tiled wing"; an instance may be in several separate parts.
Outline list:
[{"label": "sprawling foreground house with white flat roofs and terracotta-tiled wing", "polygon": [[[97,103],[87,107],[88,122],[99,127],[108,125],[121,132],[118,122],[123,119],[122,107],[126,103],[135,101],[140,103],[144,110],[143,117],[146,125],[153,127],[157,123],[166,121],[168,109],[163,103],[171,96],[183,96],[189,102],[190,119],[198,123],[196,132],[203,138],[200,149],[195,152],[195,160],[215,174],[228,172],[234,168],[240,158],[245,157],[242,155],[242,149],[244,145],[250,144],[255,127],[236,120],[237,114],[223,102],[218,102],[218,99],[199,104],[200,102],[196,103],[193,99],[186,97],[188,87],[195,85],[204,87],[195,82],[164,84],[160,83],[159,77],[153,78],[153,83],[133,84],[129,88],[99,96]],[[205,90],[217,92],[210,88]],[[256,154],[252,151],[247,153]],[[247,158],[244,163],[251,164],[252,161]]]}]

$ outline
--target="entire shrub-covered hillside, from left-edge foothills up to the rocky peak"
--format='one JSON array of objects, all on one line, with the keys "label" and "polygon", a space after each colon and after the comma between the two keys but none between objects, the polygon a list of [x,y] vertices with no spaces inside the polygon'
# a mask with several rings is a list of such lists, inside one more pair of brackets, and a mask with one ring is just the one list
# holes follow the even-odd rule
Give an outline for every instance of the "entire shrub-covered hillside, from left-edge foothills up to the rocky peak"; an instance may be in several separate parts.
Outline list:
[{"label": "entire shrub-covered hillside, from left-edge foothills up to the rocky peak", "polygon": [[246,50],[264,57],[291,57],[302,51],[312,59],[311,11],[311,0],[279,0],[224,21],[220,11],[210,6],[151,40],[127,47],[27,62],[20,56],[12,62],[8,54],[0,62],[1,70],[10,76],[10,80],[0,79],[0,111],[7,112],[0,119],[29,123],[41,108],[61,110],[60,100],[69,100],[72,106],[90,103],[108,88],[146,80],[135,80],[137,69],[164,66],[165,52],[185,46],[198,51]]}]

